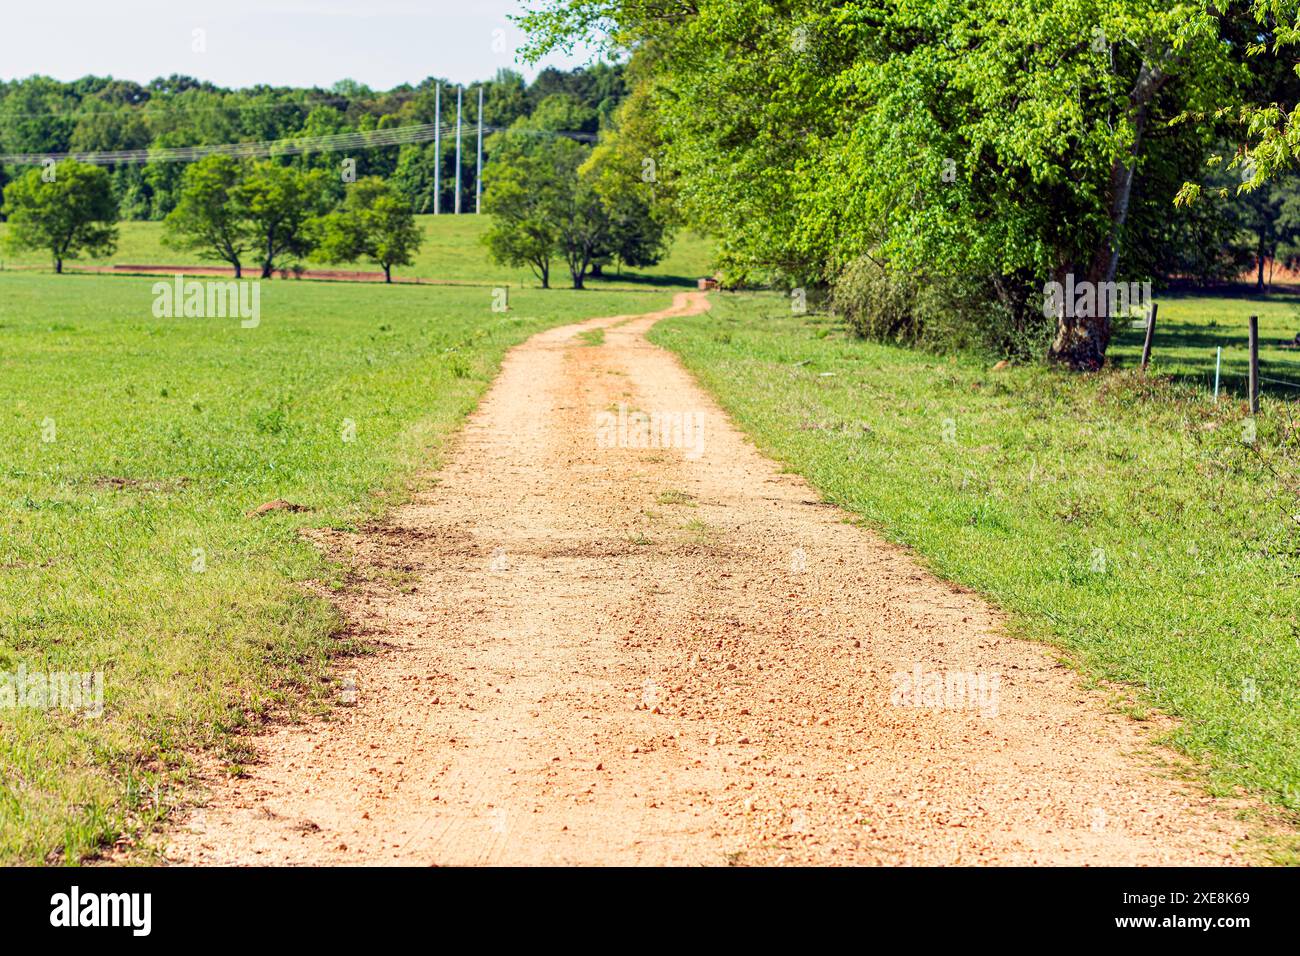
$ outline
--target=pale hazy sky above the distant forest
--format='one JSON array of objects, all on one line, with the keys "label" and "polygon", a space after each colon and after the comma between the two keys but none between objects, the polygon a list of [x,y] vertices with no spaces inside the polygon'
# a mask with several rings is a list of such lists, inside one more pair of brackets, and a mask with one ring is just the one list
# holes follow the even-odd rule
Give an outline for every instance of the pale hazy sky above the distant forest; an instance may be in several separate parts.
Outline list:
[{"label": "pale hazy sky above the distant forest", "polygon": [[[446,77],[454,83],[516,69],[568,69],[589,51],[519,62],[524,0],[9,0],[0,21],[0,78],[87,74],[147,83],[182,73],[217,86],[374,90]],[[198,33],[196,33],[198,31]]]}]

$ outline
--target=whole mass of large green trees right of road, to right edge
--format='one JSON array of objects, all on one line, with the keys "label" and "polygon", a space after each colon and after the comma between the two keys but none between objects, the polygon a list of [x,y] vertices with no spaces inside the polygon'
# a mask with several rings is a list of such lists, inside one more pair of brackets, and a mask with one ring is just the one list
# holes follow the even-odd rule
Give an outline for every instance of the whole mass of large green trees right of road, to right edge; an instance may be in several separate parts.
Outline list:
[{"label": "whole mass of large green trees right of road, to right edge", "polygon": [[537,0],[528,55],[628,60],[679,215],[728,282],[858,328],[1105,362],[1070,276],[1212,281],[1294,255],[1294,0]]}]

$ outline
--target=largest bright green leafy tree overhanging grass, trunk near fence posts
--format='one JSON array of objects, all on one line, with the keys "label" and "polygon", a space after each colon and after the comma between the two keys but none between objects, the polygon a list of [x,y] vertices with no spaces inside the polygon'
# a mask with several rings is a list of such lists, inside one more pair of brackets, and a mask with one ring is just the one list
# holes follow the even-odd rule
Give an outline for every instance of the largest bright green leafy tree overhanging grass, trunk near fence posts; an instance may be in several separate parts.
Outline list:
[{"label": "largest bright green leafy tree overhanging grass, trunk near fence posts", "polygon": [[[523,23],[530,57],[602,34],[633,51],[662,165],[724,267],[805,285],[871,258],[974,280],[1015,325],[1048,281],[1117,278],[1135,176],[1173,148],[1152,130],[1240,81],[1228,20],[1164,0],[543,0]],[[1049,356],[1097,368],[1110,316],[1072,312]]]}]

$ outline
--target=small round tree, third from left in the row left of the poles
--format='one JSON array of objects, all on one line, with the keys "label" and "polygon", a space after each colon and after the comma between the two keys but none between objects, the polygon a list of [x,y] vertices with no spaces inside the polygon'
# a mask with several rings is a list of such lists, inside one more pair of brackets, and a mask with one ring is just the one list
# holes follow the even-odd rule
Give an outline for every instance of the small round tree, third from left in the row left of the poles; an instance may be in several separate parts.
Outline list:
[{"label": "small round tree, third from left in the row left of the poles", "polygon": [[254,164],[231,191],[248,219],[263,278],[270,278],[286,260],[312,251],[308,224],[328,206],[326,176],[322,169],[302,170],[265,160]]}]

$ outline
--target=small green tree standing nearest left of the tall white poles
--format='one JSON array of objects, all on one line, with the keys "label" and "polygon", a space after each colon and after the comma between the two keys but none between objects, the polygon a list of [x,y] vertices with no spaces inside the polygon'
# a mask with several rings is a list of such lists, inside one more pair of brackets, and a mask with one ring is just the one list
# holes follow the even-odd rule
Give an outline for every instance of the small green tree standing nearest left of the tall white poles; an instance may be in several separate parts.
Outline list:
[{"label": "small green tree standing nearest left of the tall white poles", "polygon": [[385,282],[393,281],[394,265],[411,264],[424,242],[410,206],[377,176],[351,183],[343,208],[322,216],[315,228],[316,258],[333,263],[369,259],[384,269]]}]

